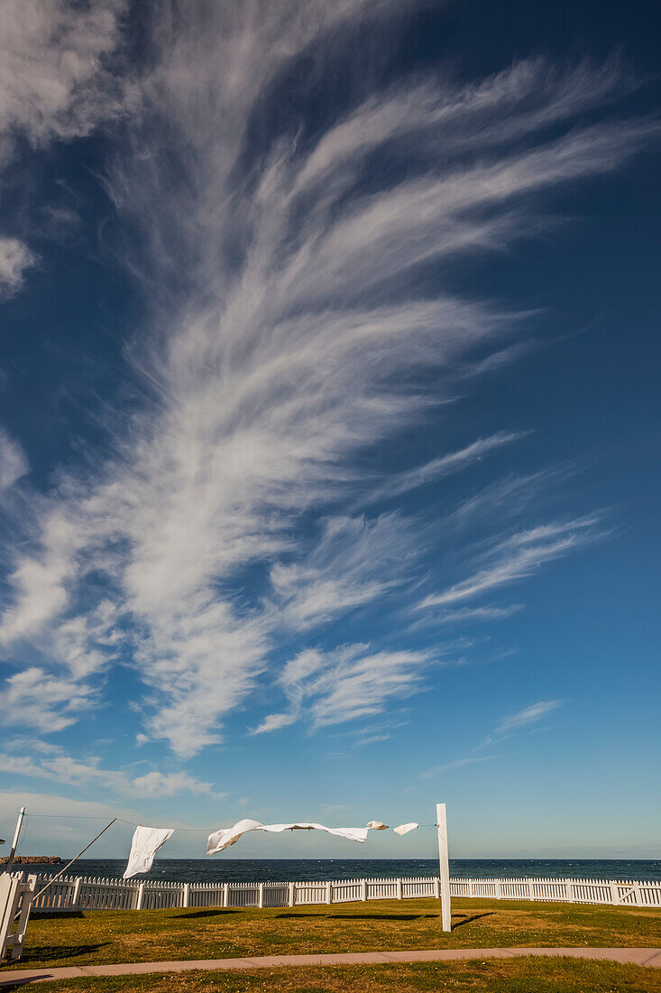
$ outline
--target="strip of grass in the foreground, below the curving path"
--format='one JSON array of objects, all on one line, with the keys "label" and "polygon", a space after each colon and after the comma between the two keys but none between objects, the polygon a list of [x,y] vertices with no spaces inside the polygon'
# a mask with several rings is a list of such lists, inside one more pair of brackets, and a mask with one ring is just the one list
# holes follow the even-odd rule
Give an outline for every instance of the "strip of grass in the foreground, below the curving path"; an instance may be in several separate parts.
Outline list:
[{"label": "strip of grass in the foreground, below the curving path", "polygon": [[412,962],[373,966],[255,969],[252,972],[155,973],[66,979],[40,993],[659,993],[661,969],[570,958]]}]

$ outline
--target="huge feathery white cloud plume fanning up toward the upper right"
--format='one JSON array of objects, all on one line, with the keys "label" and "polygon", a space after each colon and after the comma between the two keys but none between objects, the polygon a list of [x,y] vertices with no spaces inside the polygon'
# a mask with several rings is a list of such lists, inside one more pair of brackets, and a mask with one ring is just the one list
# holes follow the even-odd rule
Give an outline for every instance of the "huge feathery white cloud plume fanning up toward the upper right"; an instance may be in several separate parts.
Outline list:
[{"label": "huge feathery white cloud plume fanning up toward the upper right", "polygon": [[[649,120],[577,124],[629,81],[615,64],[561,71],[542,60],[464,84],[379,86],[366,73],[328,120],[273,123],[268,108],[299,60],[313,54],[323,71],[366,18],[404,6],[220,0],[185,19],[167,6],[148,19],[148,59],[120,108],[105,185],[136,232],[122,261],[151,315],[127,347],[143,403],[114,422],[91,470],[68,471],[35,500],[0,638],[8,650],[30,641],[81,701],[122,639],[145,687],[146,732],[184,757],[219,741],[223,717],[267,673],[288,706],[259,731],[304,712],[328,726],[415,691],[428,653],[391,646],[311,647],[297,656],[310,671],[269,671],[284,627],[317,645],[331,619],[419,579],[411,521],[347,513],[356,484],[366,489],[354,460],[419,424],[454,395],[452,370],[502,355],[525,325],[412,275],[529,236],[545,193],[617,169],[658,133]],[[120,7],[89,10],[87,70],[69,86],[70,116],[51,107],[49,134],[85,133],[107,103],[97,74]],[[21,126],[46,137],[29,115]],[[374,155],[392,168],[368,189]],[[401,496],[515,437],[482,438],[384,492]],[[591,534],[575,520],[501,537],[421,607],[530,576]],[[112,605],[102,621],[92,573]],[[58,698],[52,726],[56,713],[68,723],[74,709]]]}]

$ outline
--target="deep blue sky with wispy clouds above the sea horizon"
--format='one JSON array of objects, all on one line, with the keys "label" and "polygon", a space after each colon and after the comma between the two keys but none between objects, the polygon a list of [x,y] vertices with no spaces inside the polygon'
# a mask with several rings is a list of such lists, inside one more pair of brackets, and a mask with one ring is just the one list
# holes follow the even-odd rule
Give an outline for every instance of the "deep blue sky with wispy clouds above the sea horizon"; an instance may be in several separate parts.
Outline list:
[{"label": "deep blue sky with wispy clouds above the sea horizon", "polygon": [[0,833],[660,857],[655,5],[1,17]]}]

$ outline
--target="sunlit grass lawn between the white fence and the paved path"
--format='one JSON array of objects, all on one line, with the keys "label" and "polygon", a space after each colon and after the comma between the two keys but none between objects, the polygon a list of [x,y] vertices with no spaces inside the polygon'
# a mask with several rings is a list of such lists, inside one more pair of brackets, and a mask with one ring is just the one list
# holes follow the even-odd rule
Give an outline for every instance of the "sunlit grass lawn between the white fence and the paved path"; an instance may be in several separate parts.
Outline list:
[{"label": "sunlit grass lawn between the white fence and the paved path", "polygon": [[457,899],[452,933],[433,900],[35,915],[23,958],[2,968],[497,945],[658,947],[661,909]]}]

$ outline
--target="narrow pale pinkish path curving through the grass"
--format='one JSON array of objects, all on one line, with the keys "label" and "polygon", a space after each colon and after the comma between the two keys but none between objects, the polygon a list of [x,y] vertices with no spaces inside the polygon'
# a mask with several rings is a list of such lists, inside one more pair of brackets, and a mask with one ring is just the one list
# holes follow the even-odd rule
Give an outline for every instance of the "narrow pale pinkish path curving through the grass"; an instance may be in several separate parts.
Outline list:
[{"label": "narrow pale pinkish path curving through the grass", "polygon": [[426,951],[369,951],[345,955],[264,955],[259,958],[204,958],[186,962],[122,962],[117,965],[70,965],[59,969],[20,969],[0,972],[0,987],[72,979],[80,976],[122,976],[149,972],[263,969],[278,965],[376,965],[381,962],[448,962],[465,958],[514,958],[518,955],[568,955],[601,958],[661,968],[661,948],[443,948]]}]

